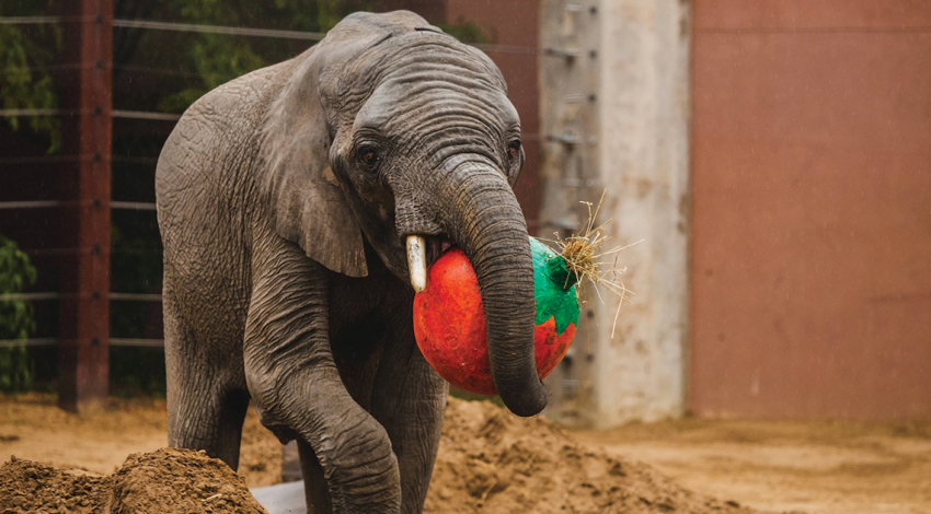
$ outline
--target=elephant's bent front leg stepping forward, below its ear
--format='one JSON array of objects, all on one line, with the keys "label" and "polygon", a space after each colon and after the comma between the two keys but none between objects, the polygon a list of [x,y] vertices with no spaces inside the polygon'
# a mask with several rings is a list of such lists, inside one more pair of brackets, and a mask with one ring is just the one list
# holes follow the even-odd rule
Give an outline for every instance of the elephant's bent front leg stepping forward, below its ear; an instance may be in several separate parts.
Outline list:
[{"label": "elephant's bent front leg stepping forward, below its ear", "polygon": [[290,243],[278,240],[264,249],[266,256],[253,261],[244,348],[262,423],[310,446],[332,512],[399,512],[400,476],[388,433],[349,396],[333,360],[325,270]]}]

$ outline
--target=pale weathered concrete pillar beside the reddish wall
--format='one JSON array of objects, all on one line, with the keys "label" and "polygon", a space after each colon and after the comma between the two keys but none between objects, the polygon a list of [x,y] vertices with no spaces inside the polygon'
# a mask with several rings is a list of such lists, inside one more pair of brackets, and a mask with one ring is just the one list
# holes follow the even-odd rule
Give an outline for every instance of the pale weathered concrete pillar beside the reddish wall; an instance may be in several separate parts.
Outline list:
[{"label": "pale weathered concrete pillar beside the reddish wall", "polygon": [[[597,133],[583,136],[597,143],[574,151],[596,161],[587,199],[597,201],[608,189],[599,222],[613,220],[609,246],[644,242],[618,259],[628,268],[624,283],[636,294],[622,307],[613,339],[619,299],[602,295],[602,305],[590,295],[591,313],[581,324],[573,358],[550,381],[555,394],[550,416],[604,428],[678,416],[685,406],[690,8],[679,0],[606,0],[591,7],[597,21],[590,23],[598,26],[589,30],[600,34],[591,106]],[[543,2],[543,9],[564,8],[565,2]],[[544,151],[565,152],[559,143]],[[559,170],[543,174],[552,179]],[[543,212],[549,213],[545,203]]]}]

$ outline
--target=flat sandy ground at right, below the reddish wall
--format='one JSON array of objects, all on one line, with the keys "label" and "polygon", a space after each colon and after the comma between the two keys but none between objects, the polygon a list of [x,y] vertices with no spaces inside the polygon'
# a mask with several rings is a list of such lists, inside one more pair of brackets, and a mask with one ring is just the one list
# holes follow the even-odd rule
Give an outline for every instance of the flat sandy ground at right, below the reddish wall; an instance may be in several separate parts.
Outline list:
[{"label": "flat sandy ground at right, below the reddish wall", "polygon": [[760,510],[931,513],[931,423],[685,419],[574,435]]}]

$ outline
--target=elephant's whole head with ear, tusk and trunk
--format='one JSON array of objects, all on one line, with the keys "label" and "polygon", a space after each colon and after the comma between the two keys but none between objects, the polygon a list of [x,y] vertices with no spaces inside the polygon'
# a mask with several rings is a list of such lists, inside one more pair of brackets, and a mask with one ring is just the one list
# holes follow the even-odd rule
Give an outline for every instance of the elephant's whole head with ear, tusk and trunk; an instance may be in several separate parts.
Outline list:
[{"label": "elephant's whole head with ear, tusk and trunk", "polygon": [[520,121],[498,69],[410,12],[354,14],[291,66],[262,140],[278,233],[352,277],[368,271],[366,241],[415,289],[458,244],[479,278],[502,399],[521,416],[542,410],[530,246],[512,190]]}]

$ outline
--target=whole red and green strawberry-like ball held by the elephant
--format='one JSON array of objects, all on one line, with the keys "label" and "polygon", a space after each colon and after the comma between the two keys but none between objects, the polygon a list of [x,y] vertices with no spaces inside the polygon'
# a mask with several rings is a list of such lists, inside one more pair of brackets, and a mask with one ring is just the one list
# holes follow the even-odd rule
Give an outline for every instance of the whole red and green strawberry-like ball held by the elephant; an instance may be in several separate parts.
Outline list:
[{"label": "whole red and green strawberry-like ball held by the elephant", "polygon": [[[565,260],[530,237],[537,374],[545,377],[565,357],[578,325],[574,274]],[[414,336],[429,364],[450,384],[496,395],[489,365],[485,313],[472,264],[459,248],[440,256],[428,270],[427,287],[414,297]]]}]

